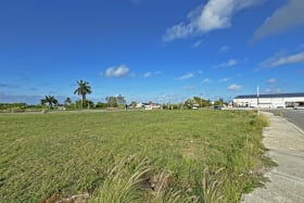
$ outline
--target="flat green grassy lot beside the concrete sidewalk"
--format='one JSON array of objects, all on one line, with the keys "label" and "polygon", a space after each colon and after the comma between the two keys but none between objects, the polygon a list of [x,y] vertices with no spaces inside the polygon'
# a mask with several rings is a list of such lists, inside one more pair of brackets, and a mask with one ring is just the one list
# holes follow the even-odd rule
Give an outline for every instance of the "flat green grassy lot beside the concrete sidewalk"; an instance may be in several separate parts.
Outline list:
[{"label": "flat green grassy lot beside the concrete sidewalk", "polygon": [[265,125],[251,111],[0,114],[0,202],[238,202],[268,164]]}]

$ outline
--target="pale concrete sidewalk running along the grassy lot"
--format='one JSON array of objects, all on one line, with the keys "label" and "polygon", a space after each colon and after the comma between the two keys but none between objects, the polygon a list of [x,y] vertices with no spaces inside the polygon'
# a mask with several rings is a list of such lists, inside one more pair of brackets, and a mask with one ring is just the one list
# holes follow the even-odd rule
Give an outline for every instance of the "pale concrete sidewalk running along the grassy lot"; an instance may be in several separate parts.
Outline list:
[{"label": "pale concrete sidewalk running along the grassy lot", "polygon": [[[304,202],[304,131],[284,117],[262,112],[270,120],[263,130],[266,155],[278,166],[264,174],[269,178],[263,188],[242,194],[242,203]],[[295,181],[296,180],[296,181]]]}]

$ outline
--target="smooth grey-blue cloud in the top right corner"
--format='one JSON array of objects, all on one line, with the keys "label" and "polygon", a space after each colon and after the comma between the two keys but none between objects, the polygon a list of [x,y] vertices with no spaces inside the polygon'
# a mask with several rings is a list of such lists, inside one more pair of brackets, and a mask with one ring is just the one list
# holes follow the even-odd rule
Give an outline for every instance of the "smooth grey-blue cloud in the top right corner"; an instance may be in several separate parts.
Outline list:
[{"label": "smooth grey-blue cloud in the top right corner", "polygon": [[255,31],[253,40],[259,40],[269,35],[290,30],[304,25],[304,1],[290,0],[284,7],[276,10],[270,17]]}]

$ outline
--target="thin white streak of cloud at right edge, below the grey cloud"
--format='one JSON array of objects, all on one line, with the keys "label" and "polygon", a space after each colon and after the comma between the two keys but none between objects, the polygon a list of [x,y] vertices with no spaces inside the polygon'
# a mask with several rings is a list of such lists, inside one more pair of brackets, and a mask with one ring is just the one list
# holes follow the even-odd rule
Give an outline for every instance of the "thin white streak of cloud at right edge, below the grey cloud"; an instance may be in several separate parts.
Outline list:
[{"label": "thin white streak of cloud at right edge, below the grey cloud", "polygon": [[265,60],[259,64],[262,67],[278,67],[293,63],[304,63],[304,52],[295,53],[292,55],[281,55],[280,53]]}]

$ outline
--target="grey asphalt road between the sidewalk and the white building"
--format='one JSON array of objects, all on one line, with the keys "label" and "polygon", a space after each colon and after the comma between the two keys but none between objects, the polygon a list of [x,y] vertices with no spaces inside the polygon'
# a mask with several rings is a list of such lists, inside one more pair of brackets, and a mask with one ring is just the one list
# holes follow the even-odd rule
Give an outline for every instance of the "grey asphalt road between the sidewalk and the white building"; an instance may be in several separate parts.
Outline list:
[{"label": "grey asphalt road between the sidewalk and the white building", "polygon": [[[264,110],[263,110],[264,111]],[[266,110],[275,115],[281,115],[304,130],[304,110]]]}]

